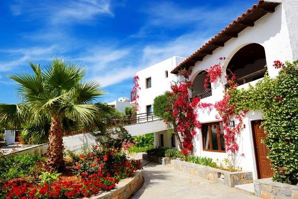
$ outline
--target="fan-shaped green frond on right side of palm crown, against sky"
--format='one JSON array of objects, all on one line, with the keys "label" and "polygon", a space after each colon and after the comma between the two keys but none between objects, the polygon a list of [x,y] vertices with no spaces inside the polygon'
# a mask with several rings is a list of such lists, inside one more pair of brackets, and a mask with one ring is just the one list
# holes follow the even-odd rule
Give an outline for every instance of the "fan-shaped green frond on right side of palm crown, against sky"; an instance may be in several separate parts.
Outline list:
[{"label": "fan-shaped green frond on right side of palm crown, against sky", "polygon": [[100,88],[101,85],[96,81],[77,84],[73,93],[74,103],[92,103],[96,98],[105,94]]}]

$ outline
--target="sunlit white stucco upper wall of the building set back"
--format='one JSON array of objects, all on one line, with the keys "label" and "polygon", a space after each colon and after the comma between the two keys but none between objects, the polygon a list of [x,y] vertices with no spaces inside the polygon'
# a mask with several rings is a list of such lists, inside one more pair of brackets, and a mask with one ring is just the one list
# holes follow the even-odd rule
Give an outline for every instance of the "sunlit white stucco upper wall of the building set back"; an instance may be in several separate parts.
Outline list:
[{"label": "sunlit white stucco upper wall of the building set back", "polygon": [[[155,97],[170,90],[171,82],[177,81],[177,77],[170,72],[184,60],[183,57],[174,56],[137,72],[141,87],[139,91],[140,98],[138,99],[140,110],[138,113],[146,113],[147,105],[152,105]],[[165,78],[165,71],[168,71],[168,78]],[[146,79],[149,77],[151,77],[151,88],[146,89]]]}]

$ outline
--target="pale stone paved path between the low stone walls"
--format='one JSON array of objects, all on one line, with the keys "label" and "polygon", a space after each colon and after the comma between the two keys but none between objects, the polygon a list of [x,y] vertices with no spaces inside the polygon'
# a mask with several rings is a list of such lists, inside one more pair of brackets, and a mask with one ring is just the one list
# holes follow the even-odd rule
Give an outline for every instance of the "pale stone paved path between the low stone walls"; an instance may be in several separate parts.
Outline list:
[{"label": "pale stone paved path between the low stone walls", "polygon": [[[144,161],[143,165],[149,162]],[[150,162],[144,166],[144,185],[131,199],[261,199],[249,192],[226,187]]]}]

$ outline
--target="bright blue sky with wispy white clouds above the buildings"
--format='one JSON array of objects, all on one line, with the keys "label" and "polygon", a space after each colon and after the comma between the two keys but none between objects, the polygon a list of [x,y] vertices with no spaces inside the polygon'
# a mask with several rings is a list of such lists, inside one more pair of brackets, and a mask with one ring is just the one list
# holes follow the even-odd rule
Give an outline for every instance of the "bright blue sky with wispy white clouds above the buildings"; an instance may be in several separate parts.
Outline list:
[{"label": "bright blue sky with wispy white clouds above the buildings", "polygon": [[6,76],[60,55],[87,66],[109,93],[130,96],[137,71],[188,57],[257,0],[0,0],[0,103],[16,103]]}]

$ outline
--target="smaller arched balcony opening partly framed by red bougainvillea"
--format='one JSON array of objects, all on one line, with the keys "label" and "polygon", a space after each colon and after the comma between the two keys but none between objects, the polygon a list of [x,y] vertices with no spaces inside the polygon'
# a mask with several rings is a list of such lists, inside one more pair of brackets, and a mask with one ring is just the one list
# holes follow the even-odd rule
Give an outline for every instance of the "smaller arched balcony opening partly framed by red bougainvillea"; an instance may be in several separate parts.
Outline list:
[{"label": "smaller arched balcony opening partly framed by red bougainvillea", "polygon": [[201,99],[207,98],[212,96],[212,89],[211,89],[211,83],[208,82],[208,87],[205,88],[205,79],[206,79],[206,71],[201,71],[194,79],[193,81],[193,89],[195,93],[192,94],[192,97],[199,97]]}]

